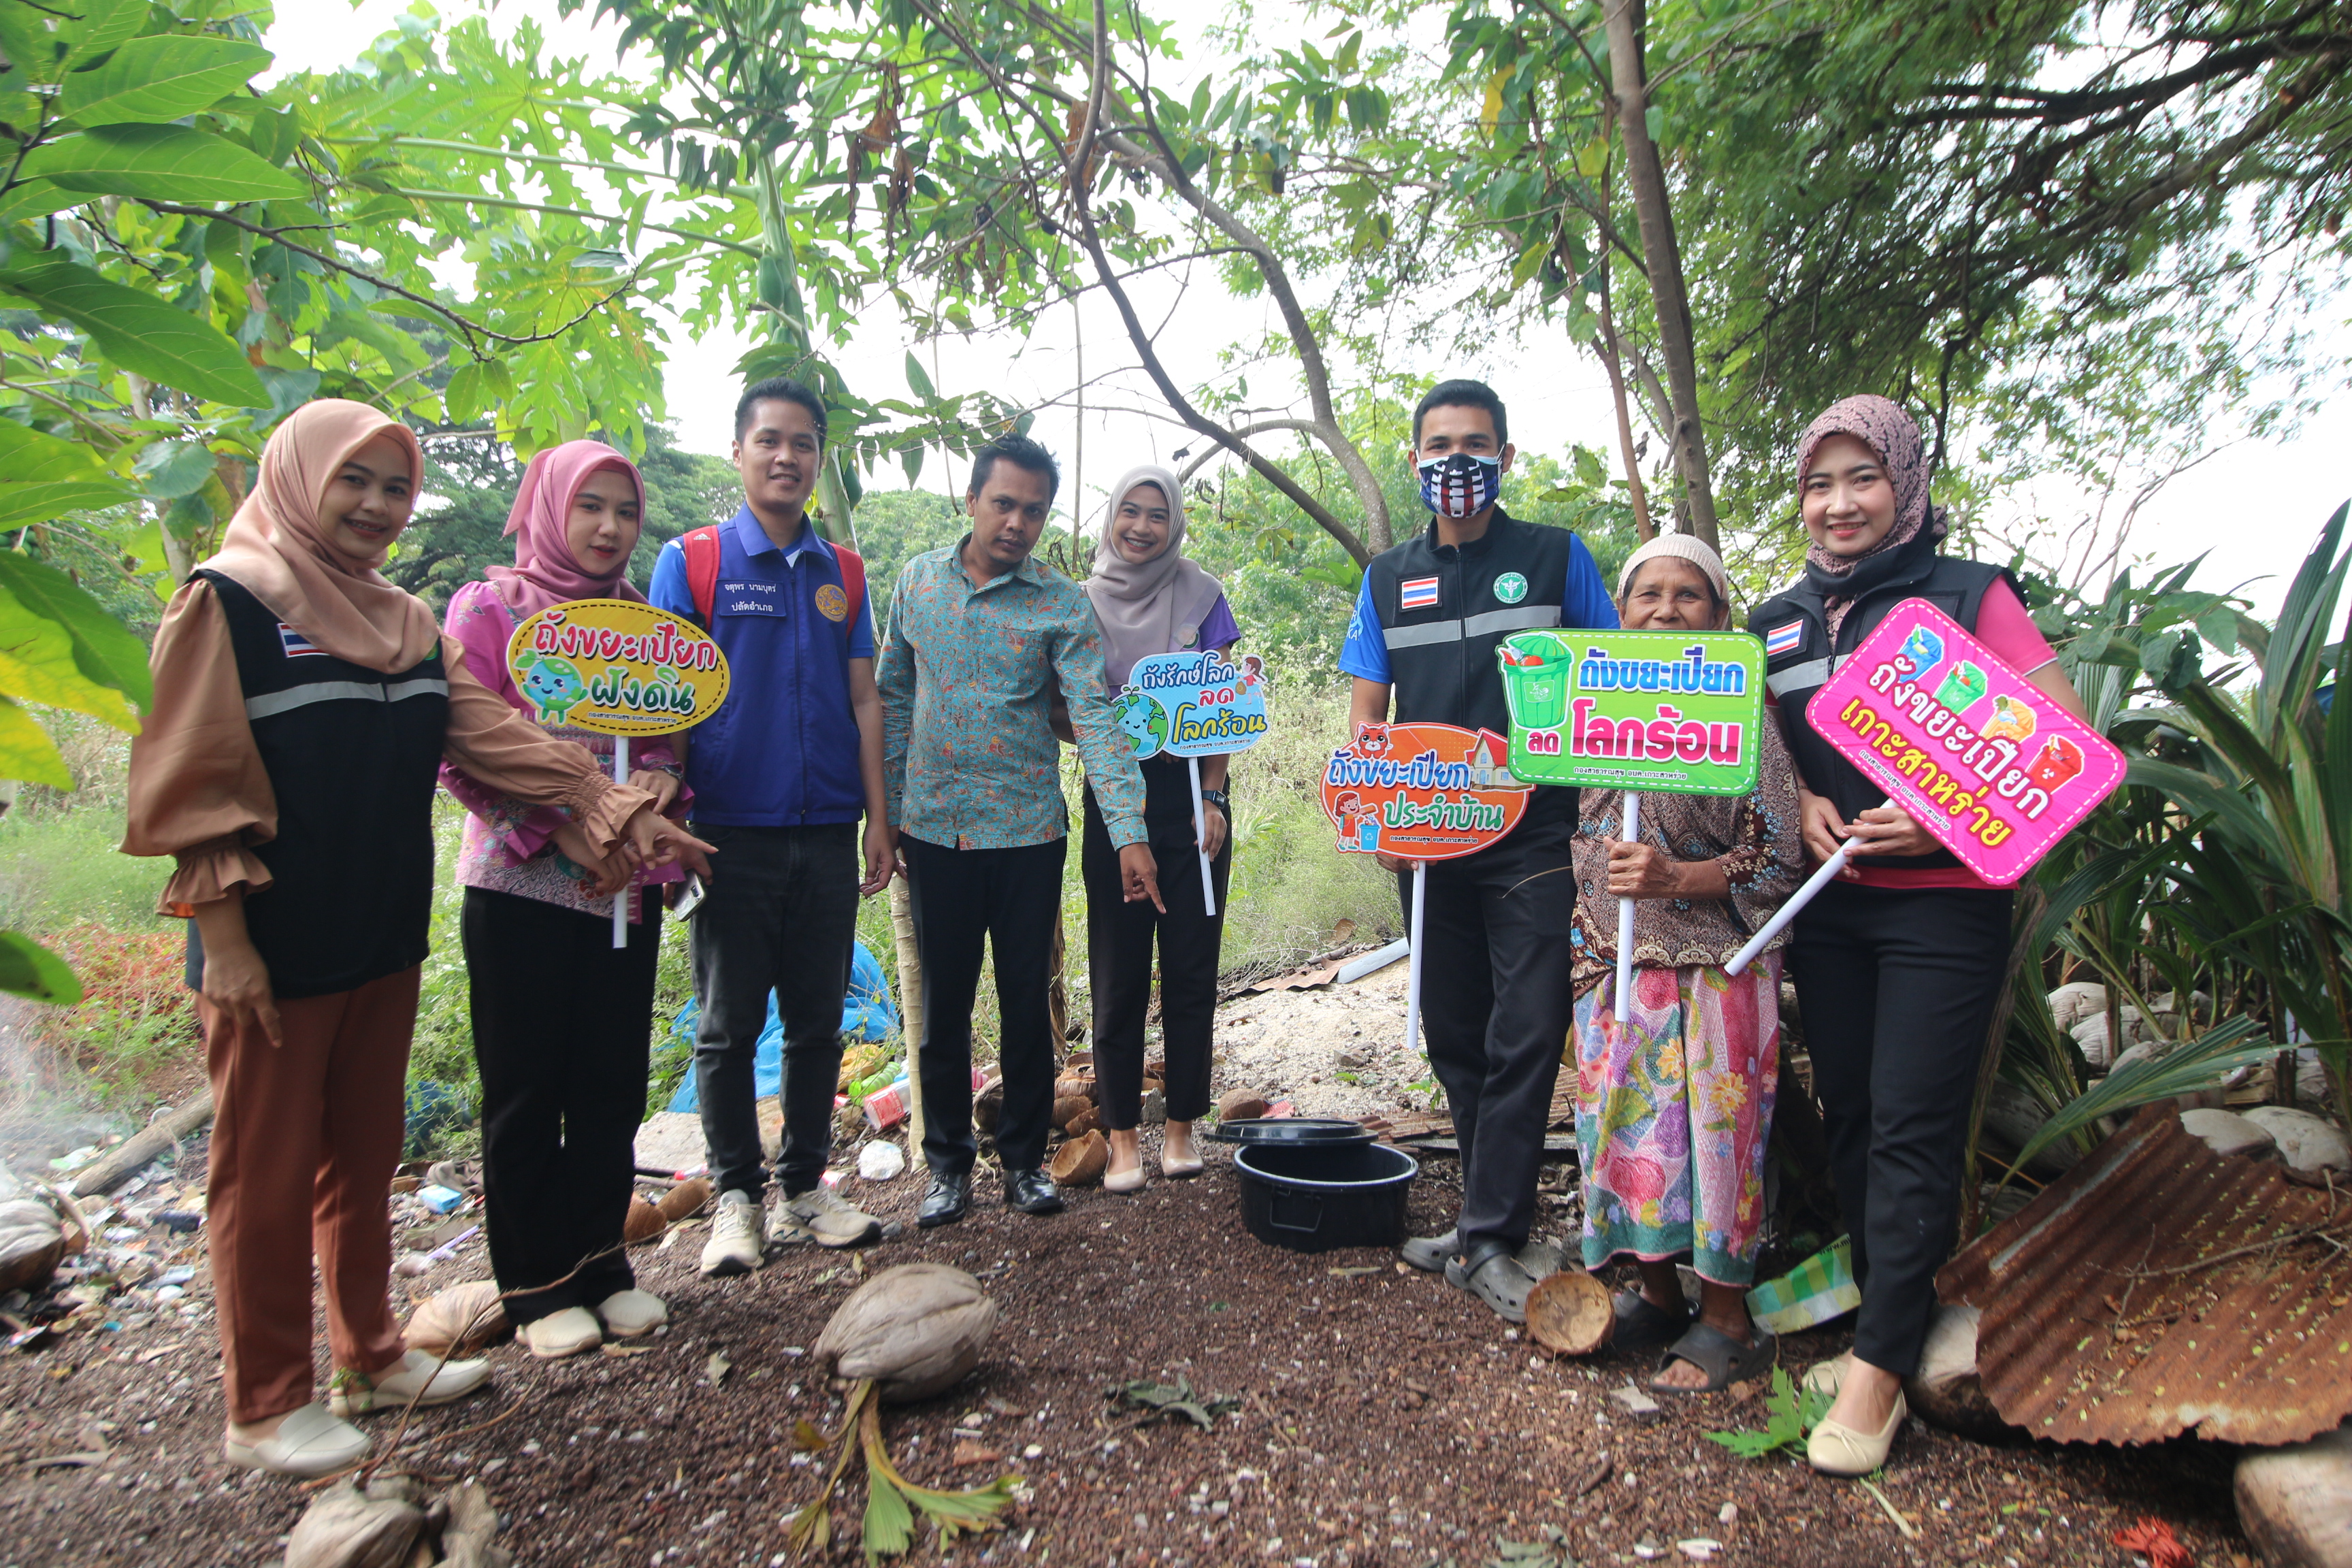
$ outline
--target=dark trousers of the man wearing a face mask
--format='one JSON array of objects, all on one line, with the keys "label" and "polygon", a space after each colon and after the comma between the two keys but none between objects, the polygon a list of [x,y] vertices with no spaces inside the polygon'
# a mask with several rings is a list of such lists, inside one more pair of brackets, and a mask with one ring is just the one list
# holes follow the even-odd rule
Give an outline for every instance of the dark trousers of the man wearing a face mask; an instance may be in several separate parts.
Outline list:
[{"label": "dark trousers of the man wearing a face mask", "polygon": [[[1522,825],[1475,856],[1430,863],[1421,1032],[1461,1143],[1463,1251],[1484,1239],[1524,1246],[1536,1225],[1543,1128],[1576,1018],[1573,835],[1569,811],[1564,820]],[[1397,877],[1397,893],[1411,929],[1411,872]]]}]

